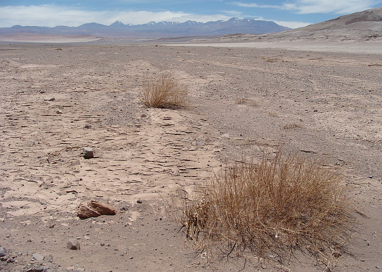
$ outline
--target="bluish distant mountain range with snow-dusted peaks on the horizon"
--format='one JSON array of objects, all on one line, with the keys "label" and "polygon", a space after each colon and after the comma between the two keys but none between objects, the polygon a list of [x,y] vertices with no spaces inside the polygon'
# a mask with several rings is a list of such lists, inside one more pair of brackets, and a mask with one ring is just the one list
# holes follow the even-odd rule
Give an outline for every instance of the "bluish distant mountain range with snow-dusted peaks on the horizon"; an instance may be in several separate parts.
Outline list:
[{"label": "bluish distant mountain range with snow-dusted peaks on the horizon", "polygon": [[116,21],[111,25],[85,23],[80,26],[21,26],[0,28],[0,34],[34,33],[50,35],[93,35],[103,37],[152,37],[171,38],[186,36],[213,36],[242,34],[266,34],[286,31],[290,28],[272,21],[231,18],[228,21],[149,22],[146,24],[124,24]]}]

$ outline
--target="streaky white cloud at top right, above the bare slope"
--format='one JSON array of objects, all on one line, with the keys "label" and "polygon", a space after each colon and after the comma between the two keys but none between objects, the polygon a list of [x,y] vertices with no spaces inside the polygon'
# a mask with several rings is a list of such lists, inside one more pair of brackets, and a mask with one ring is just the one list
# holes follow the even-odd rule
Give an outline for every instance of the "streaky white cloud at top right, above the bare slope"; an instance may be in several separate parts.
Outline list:
[{"label": "streaky white cloud at top right, above the bare slope", "polygon": [[256,3],[232,2],[230,4],[248,8],[276,8],[291,10],[299,14],[334,13],[346,14],[371,9],[381,4],[380,0],[294,0],[281,5],[259,5]]}]

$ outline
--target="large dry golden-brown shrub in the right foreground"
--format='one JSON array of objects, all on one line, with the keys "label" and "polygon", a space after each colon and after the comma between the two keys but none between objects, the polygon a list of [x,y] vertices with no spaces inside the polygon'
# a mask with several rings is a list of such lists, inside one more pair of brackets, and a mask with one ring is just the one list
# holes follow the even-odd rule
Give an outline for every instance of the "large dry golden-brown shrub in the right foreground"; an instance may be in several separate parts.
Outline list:
[{"label": "large dry golden-brown shrub in the right foreground", "polygon": [[322,162],[278,151],[227,165],[193,200],[173,195],[168,213],[208,257],[283,263],[299,252],[328,265],[353,223],[342,179]]}]

